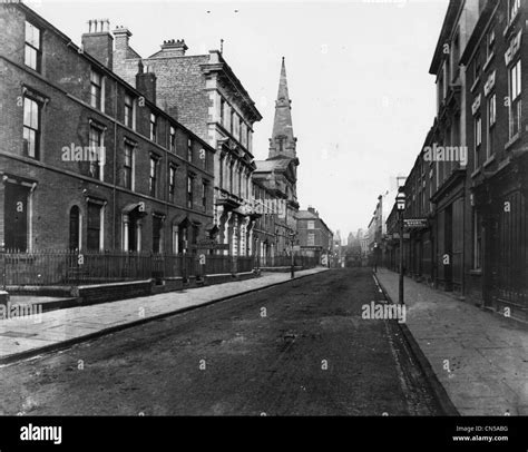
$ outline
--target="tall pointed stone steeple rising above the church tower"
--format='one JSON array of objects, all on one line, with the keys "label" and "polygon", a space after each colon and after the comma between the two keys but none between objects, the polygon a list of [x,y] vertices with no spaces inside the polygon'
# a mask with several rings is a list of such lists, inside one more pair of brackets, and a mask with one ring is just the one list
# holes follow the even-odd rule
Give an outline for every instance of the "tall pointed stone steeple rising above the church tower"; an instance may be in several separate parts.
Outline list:
[{"label": "tall pointed stone steeple rising above the church tower", "polygon": [[292,101],[287,94],[286,65],[282,57],[281,79],[278,81],[277,100],[275,101],[275,119],[273,135],[270,138],[270,156],[272,158],[296,158],[292,126]]}]

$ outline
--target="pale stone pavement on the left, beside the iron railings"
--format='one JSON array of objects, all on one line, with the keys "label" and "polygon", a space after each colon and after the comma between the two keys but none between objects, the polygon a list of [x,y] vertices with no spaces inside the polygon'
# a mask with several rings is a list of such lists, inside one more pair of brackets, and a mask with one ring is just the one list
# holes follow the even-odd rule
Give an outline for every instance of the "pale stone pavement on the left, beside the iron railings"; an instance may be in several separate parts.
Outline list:
[{"label": "pale stone pavement on the left, beside the iron railings", "polygon": [[[297,271],[295,278],[326,269]],[[148,318],[273,286],[290,278],[290,273],[263,273],[260,277],[233,283],[45,313],[32,312],[19,318],[1,318],[0,363],[97,337]]]}]

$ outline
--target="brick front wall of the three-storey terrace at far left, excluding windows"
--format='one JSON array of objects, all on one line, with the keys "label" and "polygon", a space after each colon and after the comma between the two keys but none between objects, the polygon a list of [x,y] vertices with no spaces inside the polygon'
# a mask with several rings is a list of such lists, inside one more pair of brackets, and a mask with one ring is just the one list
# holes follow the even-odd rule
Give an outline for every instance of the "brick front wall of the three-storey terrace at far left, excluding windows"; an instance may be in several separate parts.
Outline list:
[{"label": "brick front wall of the three-storey terrace at far left, excluding windows", "polygon": [[[137,107],[137,130],[123,125],[124,95],[135,96],[133,87],[123,85],[111,73],[106,73],[105,112],[89,106],[91,63],[85,55],[67,45],[38,17],[32,17],[42,30],[41,75],[23,66],[23,30],[26,7],[2,6],[0,9],[0,171],[16,178],[36,183],[31,195],[31,246],[33,248],[66,248],[69,239],[69,212],[79,206],[82,217],[82,246],[87,237],[88,197],[106,202],[104,247],[119,249],[121,246],[121,216],[125,207],[144,202],[147,216],[143,227],[143,249],[151,249],[153,213],[165,215],[165,249],[172,248],[170,230],[174,222],[188,216],[204,226],[212,222],[213,190],[208,191],[207,210],[202,207],[202,180],[213,185],[213,149],[174,122],[168,116],[148,102]],[[31,14],[30,12],[28,12]],[[20,66],[16,66],[18,63]],[[40,158],[31,159],[22,154],[22,96],[26,90],[42,99]],[[158,141],[149,139],[149,116],[154,109],[159,115]],[[117,120],[116,120],[117,119]],[[104,181],[89,176],[89,161],[65,161],[65,148],[87,147],[90,121],[105,129],[106,165]],[[177,130],[176,154],[166,150],[169,125]],[[193,138],[195,160],[187,161],[187,139]],[[135,191],[123,187],[125,138],[137,144],[135,150]],[[204,149],[208,161],[203,168],[199,151]],[[159,157],[158,190],[156,198],[149,196],[149,157]],[[176,199],[168,203],[168,164],[177,165]],[[195,174],[195,198],[192,209],[186,208],[186,175],[190,168]],[[4,239],[4,197],[0,188],[0,239]]]}]

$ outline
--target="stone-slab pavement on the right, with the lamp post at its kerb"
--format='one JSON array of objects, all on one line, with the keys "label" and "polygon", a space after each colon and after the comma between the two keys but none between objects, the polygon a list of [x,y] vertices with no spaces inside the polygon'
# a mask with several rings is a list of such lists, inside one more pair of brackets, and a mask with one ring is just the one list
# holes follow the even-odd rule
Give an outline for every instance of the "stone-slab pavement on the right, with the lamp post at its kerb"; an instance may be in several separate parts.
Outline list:
[{"label": "stone-slab pavement on the right, with the lamp post at its kerb", "polygon": [[[398,274],[377,273],[398,302]],[[408,277],[407,326],[461,415],[528,415],[528,332]]]}]

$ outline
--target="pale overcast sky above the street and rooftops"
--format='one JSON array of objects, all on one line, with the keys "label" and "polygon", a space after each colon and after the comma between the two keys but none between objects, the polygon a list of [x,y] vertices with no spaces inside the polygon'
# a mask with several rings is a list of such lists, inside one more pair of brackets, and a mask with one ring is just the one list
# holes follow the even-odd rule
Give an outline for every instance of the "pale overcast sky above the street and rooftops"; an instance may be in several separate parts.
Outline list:
[{"label": "pale overcast sky above the street and rooftops", "polygon": [[218,49],[263,115],[254,155],[267,157],[281,57],[297,137],[297,196],[335,232],[366,228],[378,195],[407,175],[436,109],[432,52],[448,0],[67,1],[27,3],[80,43],[89,19],[126,26],[141,57],[167,39],[187,55]]}]

